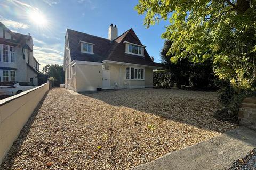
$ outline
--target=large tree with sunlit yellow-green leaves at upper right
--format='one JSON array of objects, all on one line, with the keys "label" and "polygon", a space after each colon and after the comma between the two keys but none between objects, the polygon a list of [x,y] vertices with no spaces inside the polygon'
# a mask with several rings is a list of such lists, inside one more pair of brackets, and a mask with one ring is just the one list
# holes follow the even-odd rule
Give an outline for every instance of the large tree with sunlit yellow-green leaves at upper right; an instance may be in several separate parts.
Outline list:
[{"label": "large tree with sunlit yellow-green leaves at upper right", "polygon": [[146,14],[147,27],[162,19],[170,21],[162,38],[173,42],[168,51],[175,54],[172,62],[211,58],[220,79],[239,89],[255,90],[255,0],[139,0],[135,8]]}]

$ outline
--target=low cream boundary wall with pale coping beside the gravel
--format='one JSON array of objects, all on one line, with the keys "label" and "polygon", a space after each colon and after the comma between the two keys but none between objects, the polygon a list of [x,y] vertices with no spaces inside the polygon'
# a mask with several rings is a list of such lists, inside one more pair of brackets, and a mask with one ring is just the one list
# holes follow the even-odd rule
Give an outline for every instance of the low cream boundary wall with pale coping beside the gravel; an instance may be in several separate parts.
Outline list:
[{"label": "low cream boundary wall with pale coping beside the gravel", "polygon": [[49,83],[45,83],[0,100],[0,164],[48,90]]}]

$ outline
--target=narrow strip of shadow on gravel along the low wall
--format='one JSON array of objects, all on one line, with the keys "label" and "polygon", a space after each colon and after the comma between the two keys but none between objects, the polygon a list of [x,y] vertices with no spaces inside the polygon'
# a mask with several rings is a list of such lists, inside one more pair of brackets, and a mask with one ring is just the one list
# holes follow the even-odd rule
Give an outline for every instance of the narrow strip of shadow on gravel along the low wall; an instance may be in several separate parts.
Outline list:
[{"label": "narrow strip of shadow on gravel along the low wall", "polygon": [[6,155],[5,159],[3,160],[3,162],[0,166],[0,170],[11,169],[13,167],[14,159],[19,155],[20,147],[21,147],[22,143],[26,140],[28,132],[31,128],[31,125],[34,123],[35,118],[38,114],[38,111],[42,107],[48,92],[49,91],[47,91],[45,93],[45,95],[43,96],[43,98],[38,103],[37,107],[35,108],[34,112],[29,117],[27,123],[21,129],[19,137],[15,140],[15,142],[13,143],[12,147],[10,148],[8,154]]}]

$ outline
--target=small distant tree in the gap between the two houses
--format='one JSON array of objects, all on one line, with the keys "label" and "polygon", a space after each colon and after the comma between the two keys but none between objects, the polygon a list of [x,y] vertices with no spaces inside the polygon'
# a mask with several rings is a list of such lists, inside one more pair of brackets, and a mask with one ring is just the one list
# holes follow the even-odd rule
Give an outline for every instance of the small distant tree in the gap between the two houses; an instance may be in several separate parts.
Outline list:
[{"label": "small distant tree in the gap between the two houses", "polygon": [[60,84],[63,84],[63,79],[64,79],[63,65],[47,64],[45,67],[43,67],[43,73],[49,75],[49,77],[53,77],[56,79],[54,81],[54,86],[58,87]]}]

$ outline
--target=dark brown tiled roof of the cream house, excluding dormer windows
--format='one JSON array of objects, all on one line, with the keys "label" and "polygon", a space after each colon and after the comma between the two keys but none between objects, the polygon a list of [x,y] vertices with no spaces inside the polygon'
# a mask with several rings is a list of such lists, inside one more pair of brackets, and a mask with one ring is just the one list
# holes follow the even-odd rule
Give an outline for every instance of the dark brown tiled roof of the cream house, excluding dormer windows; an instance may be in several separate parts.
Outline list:
[{"label": "dark brown tiled roof of the cream house, excluding dormer windows", "polygon": [[[67,39],[71,60],[82,60],[89,62],[102,62],[103,60],[110,60],[148,66],[159,66],[151,60],[151,57],[147,53],[146,49],[144,50],[144,56],[125,53],[124,41],[142,45],[132,28],[112,41],[106,38],[67,29]],[[81,44],[79,41],[93,43],[94,54],[82,53]]]}]

